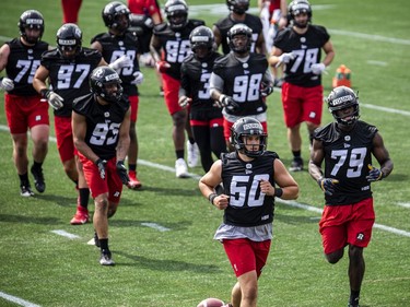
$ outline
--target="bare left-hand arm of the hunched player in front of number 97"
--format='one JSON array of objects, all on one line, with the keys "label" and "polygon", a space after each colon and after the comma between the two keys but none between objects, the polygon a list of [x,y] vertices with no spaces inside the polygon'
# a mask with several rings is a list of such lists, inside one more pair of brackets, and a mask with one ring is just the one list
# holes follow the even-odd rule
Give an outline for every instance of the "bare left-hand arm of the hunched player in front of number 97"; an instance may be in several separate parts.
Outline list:
[{"label": "bare left-hand arm of the hunched player in front of number 97", "polygon": [[72,113],[71,117],[72,135],[77,150],[83,154],[86,158],[96,163],[99,158],[93,150],[85,143],[86,134],[86,120],[85,116],[82,116],[75,111]]}]

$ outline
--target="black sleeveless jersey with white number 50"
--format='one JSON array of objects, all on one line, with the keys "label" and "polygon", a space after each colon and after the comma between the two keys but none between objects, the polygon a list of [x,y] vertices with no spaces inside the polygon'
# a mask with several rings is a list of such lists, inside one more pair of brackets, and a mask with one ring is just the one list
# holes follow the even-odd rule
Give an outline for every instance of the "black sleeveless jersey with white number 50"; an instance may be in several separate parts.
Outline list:
[{"label": "black sleeveless jersey with white number 50", "polygon": [[273,221],[274,197],[260,193],[259,181],[274,187],[276,158],[278,154],[268,151],[251,162],[242,161],[236,152],[221,155],[224,193],[230,196],[225,224],[251,227]]}]

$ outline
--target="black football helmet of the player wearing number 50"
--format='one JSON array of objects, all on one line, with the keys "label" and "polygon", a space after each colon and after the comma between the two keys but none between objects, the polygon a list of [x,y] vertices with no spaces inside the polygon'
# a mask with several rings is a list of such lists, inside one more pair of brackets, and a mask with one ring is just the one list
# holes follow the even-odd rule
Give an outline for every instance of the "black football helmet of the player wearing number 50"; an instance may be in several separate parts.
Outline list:
[{"label": "black football helmet of the player wearing number 50", "polygon": [[[246,149],[243,137],[259,135],[259,144],[253,145],[253,150]],[[238,119],[231,128],[231,144],[236,151],[249,157],[258,157],[263,154],[267,145],[268,135],[265,133],[262,125],[259,120],[251,117],[243,117]],[[256,147],[256,149],[255,149]]]}]

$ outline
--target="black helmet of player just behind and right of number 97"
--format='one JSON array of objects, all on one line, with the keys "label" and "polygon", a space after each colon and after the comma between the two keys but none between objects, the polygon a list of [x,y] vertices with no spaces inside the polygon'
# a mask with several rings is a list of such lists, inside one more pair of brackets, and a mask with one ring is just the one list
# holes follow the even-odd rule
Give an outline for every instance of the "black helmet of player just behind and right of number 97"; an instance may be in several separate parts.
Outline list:
[{"label": "black helmet of player just behind and right of number 97", "polygon": [[[126,19],[121,20],[121,16],[125,15]],[[105,26],[117,29],[119,32],[125,32],[130,25],[130,10],[126,4],[114,1],[105,5],[102,16],[105,23]]]}]

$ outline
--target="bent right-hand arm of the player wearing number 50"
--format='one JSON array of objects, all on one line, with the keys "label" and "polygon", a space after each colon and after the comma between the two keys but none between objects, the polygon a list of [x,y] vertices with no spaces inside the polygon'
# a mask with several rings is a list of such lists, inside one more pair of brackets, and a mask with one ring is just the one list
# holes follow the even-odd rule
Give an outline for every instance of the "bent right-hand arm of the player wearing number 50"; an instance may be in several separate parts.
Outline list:
[{"label": "bent right-hand arm of the player wearing number 50", "polygon": [[274,181],[279,188],[274,189],[273,194],[285,200],[296,199],[298,197],[298,186],[295,179],[289,174],[283,163],[276,158],[273,162]]}]

